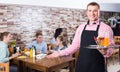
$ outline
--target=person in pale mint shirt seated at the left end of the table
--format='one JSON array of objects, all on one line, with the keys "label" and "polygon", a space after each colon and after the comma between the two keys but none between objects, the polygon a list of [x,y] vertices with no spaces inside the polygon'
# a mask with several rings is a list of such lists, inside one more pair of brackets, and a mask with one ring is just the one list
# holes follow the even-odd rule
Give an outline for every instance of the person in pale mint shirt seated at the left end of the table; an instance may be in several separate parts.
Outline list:
[{"label": "person in pale mint shirt seated at the left end of the table", "polygon": [[[15,53],[12,56],[9,57],[9,50],[8,50],[8,43],[12,39],[12,35],[10,32],[3,32],[0,34],[0,63],[9,63],[9,61],[19,55],[19,53]],[[13,67],[10,67],[11,72],[16,72],[17,69],[13,69]]]}]

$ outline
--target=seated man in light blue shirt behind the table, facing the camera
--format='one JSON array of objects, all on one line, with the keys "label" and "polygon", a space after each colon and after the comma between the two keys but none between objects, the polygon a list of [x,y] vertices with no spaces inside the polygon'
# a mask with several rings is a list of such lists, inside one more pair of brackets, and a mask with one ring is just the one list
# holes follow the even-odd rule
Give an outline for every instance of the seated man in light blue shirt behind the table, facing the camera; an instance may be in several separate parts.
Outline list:
[{"label": "seated man in light blue shirt behind the table, facing the camera", "polygon": [[35,46],[36,48],[36,53],[46,53],[47,52],[47,44],[46,42],[43,41],[43,36],[41,32],[36,33],[36,39],[28,45],[26,48],[32,48]]}]

